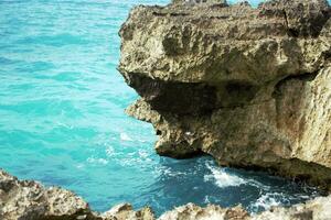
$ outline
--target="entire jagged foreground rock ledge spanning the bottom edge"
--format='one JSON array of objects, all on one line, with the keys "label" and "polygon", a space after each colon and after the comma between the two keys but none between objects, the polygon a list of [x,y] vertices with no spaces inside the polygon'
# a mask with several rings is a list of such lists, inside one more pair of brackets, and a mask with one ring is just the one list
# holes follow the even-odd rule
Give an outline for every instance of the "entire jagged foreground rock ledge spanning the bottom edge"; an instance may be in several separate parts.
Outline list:
[{"label": "entire jagged foreground rock ledge spanning the bottom edge", "polygon": [[[331,196],[320,197],[291,208],[274,207],[250,216],[242,207],[205,208],[188,204],[163,213],[159,220],[330,220]],[[32,180],[19,180],[0,169],[1,220],[154,220],[148,207],[135,211],[129,204],[115,206],[104,213],[93,212],[75,194],[45,188]]]}]

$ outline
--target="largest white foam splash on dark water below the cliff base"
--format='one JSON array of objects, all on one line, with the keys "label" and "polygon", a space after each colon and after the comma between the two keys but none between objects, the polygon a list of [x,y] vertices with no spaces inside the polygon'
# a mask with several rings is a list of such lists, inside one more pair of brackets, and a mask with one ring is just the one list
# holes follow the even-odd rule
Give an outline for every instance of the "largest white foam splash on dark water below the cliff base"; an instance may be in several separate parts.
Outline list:
[{"label": "largest white foam splash on dark water below the cliff base", "polygon": [[246,184],[247,182],[238,176],[228,174],[221,167],[213,167],[206,164],[206,167],[212,172],[212,174],[204,175],[205,182],[214,182],[221,188],[229,186],[239,186]]}]

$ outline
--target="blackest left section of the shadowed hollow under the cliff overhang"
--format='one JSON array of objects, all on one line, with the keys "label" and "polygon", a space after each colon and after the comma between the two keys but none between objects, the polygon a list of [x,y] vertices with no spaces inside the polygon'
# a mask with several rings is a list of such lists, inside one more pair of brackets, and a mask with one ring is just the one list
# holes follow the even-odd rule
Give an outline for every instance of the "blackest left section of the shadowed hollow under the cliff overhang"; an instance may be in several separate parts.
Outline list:
[{"label": "blackest left section of the shadowed hollow under the cliff overhang", "polygon": [[153,110],[179,116],[210,114],[216,108],[216,89],[203,82],[177,82],[127,74],[126,81]]}]

